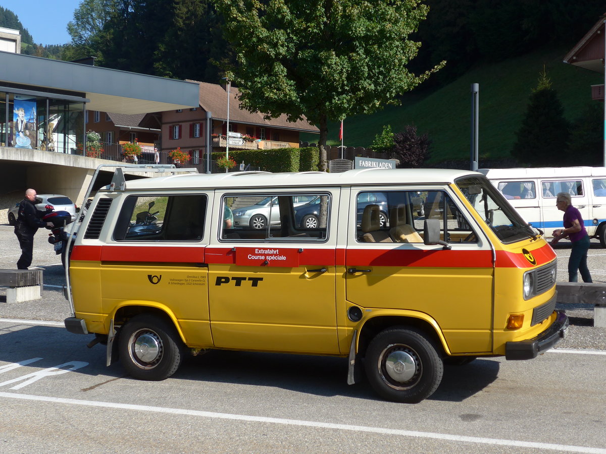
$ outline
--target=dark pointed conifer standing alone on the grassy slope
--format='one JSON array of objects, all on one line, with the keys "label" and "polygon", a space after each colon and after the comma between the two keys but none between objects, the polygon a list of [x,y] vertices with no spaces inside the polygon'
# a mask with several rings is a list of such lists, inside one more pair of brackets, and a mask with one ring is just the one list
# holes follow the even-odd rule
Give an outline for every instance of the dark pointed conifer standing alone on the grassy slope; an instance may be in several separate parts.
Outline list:
[{"label": "dark pointed conifer standing alone on the grassy slope", "polygon": [[565,165],[569,136],[570,125],[564,118],[564,108],[543,70],[536,89],[528,99],[526,114],[511,155],[531,165]]}]

